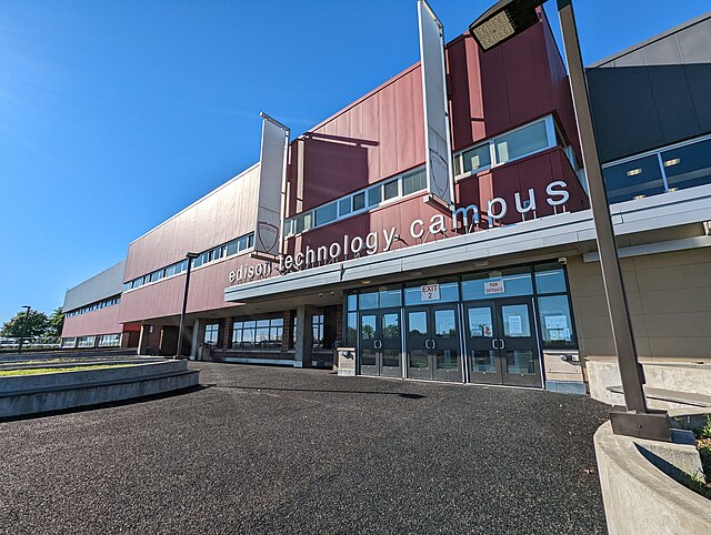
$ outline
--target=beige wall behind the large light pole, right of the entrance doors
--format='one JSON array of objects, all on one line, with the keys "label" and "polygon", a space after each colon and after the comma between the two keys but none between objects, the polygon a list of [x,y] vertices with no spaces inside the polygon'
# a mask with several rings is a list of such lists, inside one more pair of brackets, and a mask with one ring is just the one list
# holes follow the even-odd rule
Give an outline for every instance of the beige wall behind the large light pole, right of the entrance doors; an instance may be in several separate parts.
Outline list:
[{"label": "beige wall behind the large light pole, right of the entrance doors", "polygon": [[[711,356],[711,250],[623,259],[622,266],[639,355]],[[600,264],[569,258],[568,275],[581,355],[614,355]]]}]

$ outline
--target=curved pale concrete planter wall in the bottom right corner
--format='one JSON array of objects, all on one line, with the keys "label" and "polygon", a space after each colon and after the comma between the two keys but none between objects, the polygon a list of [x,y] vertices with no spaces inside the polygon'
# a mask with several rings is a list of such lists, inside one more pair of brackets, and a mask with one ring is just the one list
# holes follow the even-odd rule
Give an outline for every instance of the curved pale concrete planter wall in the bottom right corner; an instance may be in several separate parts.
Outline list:
[{"label": "curved pale concrete planter wall in the bottom right corner", "polygon": [[610,422],[594,435],[610,534],[711,533],[711,502],[648,461],[642,442],[612,434]]}]

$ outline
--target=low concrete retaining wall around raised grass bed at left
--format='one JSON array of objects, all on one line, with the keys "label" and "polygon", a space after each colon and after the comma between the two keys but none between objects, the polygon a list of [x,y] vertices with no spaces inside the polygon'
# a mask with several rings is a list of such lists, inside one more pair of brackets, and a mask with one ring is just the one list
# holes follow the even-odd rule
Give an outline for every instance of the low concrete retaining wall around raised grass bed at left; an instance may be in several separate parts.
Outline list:
[{"label": "low concrete retaining wall around raised grass bed at left", "polygon": [[186,361],[0,380],[0,418],[161,394],[198,384]]}]

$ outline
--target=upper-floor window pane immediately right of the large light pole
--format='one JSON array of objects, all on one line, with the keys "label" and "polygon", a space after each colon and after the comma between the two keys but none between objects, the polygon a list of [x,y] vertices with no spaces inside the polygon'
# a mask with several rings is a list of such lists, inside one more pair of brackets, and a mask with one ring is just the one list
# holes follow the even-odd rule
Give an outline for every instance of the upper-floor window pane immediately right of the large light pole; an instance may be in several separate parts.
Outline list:
[{"label": "upper-floor window pane immediately right of the large light pole", "polygon": [[602,174],[611,204],[665,191],[657,154],[605,168]]}]

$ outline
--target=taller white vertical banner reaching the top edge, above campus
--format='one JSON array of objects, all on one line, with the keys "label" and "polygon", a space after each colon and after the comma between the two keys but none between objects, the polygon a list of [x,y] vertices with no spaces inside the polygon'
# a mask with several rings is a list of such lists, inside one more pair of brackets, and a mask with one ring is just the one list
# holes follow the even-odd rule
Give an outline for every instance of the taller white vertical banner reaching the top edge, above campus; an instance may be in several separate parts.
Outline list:
[{"label": "taller white vertical banner reaching the top edge, above campus", "polygon": [[418,0],[422,101],[424,103],[424,151],[429,199],[454,205],[452,143],[449,133],[444,28],[424,0]]}]

